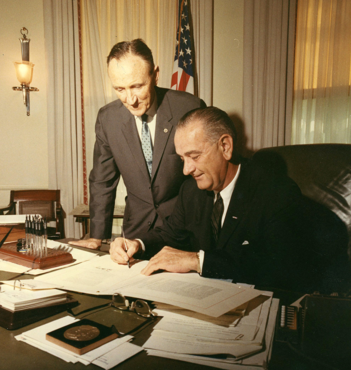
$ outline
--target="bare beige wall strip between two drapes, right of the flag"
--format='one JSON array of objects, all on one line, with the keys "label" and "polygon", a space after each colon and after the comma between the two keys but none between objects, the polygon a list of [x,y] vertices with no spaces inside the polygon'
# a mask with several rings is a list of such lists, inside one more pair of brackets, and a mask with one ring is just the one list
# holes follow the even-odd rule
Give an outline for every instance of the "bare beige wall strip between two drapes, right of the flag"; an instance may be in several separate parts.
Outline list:
[{"label": "bare beige wall strip between two drapes, right of the flag", "polygon": [[214,0],[213,105],[242,114],[244,0]]}]

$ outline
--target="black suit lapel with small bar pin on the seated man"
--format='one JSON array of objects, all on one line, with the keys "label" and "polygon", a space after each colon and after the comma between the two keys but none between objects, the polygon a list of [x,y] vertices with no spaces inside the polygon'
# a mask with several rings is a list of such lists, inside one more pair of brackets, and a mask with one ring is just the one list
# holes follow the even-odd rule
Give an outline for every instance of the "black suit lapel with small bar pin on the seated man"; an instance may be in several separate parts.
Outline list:
[{"label": "black suit lapel with small bar pin on the seated man", "polygon": [[241,164],[238,181],[235,184],[228,210],[224,219],[222,231],[219,235],[217,249],[223,248],[229,237],[241,223],[248,212],[249,197],[251,189],[251,176],[245,164]]}]

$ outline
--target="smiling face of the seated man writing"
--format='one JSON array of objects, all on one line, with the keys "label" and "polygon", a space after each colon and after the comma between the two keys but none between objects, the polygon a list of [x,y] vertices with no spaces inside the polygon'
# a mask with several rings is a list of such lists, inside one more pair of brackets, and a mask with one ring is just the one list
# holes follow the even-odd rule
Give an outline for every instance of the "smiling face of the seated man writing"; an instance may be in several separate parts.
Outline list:
[{"label": "smiling face of the seated man writing", "polygon": [[175,151],[184,162],[184,175],[191,175],[199,189],[223,189],[228,161],[219,142],[207,141],[200,122],[177,129],[174,137]]}]

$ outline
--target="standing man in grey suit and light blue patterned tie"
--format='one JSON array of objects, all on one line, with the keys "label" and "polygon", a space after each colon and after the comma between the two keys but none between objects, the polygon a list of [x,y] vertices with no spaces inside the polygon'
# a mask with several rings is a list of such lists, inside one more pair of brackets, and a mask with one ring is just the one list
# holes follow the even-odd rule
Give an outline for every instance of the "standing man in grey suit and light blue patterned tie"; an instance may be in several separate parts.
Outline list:
[{"label": "standing man in grey suit and light blue patterned tie", "polygon": [[127,188],[126,237],[160,226],[170,215],[185,179],[173,126],[186,112],[205,106],[194,95],[156,86],[159,67],[141,39],[116,44],[107,64],[119,100],[99,110],[89,176],[91,238],[73,242],[92,249],[111,236],[121,175]]}]

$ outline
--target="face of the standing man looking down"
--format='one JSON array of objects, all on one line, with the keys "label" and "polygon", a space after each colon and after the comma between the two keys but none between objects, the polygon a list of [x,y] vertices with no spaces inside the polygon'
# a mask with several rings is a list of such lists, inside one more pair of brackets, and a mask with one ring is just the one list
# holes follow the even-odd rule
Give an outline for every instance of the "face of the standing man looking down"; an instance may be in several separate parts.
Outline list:
[{"label": "face of the standing man looking down", "polygon": [[146,61],[128,54],[120,60],[112,59],[107,71],[120,101],[133,115],[143,115],[154,101],[159,67],[156,65],[150,75],[150,65]]}]

